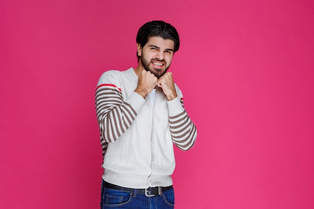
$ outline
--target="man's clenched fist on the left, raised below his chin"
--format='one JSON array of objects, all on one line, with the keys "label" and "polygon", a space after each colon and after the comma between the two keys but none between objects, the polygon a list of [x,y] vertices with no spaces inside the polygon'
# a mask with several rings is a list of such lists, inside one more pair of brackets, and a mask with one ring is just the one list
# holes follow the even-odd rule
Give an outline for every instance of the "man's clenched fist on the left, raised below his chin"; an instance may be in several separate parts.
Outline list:
[{"label": "man's clenched fist on the left, raised below his chin", "polygon": [[145,98],[155,88],[157,81],[158,79],[154,74],[143,69],[138,77],[137,88],[134,91]]}]

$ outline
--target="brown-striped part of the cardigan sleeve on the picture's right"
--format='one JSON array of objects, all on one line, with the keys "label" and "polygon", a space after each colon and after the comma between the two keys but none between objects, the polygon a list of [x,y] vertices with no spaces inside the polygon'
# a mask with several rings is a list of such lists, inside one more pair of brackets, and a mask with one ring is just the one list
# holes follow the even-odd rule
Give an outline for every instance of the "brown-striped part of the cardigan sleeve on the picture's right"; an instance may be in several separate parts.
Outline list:
[{"label": "brown-striped part of the cardigan sleeve on the picture's right", "polygon": [[180,99],[180,103],[182,105],[181,112],[174,116],[169,116],[169,127],[173,143],[186,151],[195,144],[197,128],[183,107],[183,98]]}]

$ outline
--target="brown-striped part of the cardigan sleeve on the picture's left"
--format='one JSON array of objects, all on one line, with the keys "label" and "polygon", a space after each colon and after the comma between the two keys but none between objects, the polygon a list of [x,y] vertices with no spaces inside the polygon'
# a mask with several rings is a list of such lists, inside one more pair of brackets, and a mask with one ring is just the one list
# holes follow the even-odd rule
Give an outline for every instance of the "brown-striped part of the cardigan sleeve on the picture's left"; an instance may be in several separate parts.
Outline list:
[{"label": "brown-striped part of the cardigan sleeve on the picture's left", "polygon": [[114,142],[132,124],[136,111],[123,102],[121,89],[112,84],[101,84],[95,93],[96,116],[103,155],[108,143]]}]

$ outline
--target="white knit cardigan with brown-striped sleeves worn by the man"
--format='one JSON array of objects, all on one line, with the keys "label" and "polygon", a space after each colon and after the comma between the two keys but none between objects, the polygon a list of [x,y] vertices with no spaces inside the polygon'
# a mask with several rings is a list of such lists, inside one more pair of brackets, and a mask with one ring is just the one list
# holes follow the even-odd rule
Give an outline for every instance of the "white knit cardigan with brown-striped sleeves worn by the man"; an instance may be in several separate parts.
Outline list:
[{"label": "white knit cardigan with brown-striped sleeves worn by the man", "polygon": [[183,107],[183,96],[167,101],[156,88],[154,106],[149,97],[134,92],[137,75],[126,71],[107,71],[98,81],[96,114],[103,147],[103,179],[129,187],[172,185],[175,169],[173,143],[190,149],[197,129]]}]

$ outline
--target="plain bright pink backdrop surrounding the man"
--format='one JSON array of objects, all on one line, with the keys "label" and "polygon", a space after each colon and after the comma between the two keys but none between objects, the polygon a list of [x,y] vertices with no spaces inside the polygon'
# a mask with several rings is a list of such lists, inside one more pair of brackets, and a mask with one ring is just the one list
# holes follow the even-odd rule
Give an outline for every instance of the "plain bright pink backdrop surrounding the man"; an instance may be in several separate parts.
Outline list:
[{"label": "plain bright pink backdrop surrounding the man", "polygon": [[176,208],[314,208],[313,1],[0,2],[0,208],[99,208],[99,76],[170,22],[198,127]]}]

